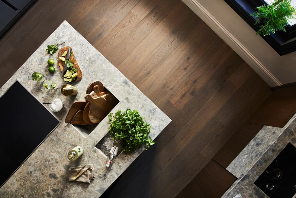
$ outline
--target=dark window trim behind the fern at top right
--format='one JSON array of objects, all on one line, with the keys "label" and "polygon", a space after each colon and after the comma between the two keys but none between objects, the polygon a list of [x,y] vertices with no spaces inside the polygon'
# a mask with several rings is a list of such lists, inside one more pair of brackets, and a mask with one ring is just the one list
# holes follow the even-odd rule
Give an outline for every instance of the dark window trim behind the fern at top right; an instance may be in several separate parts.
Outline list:
[{"label": "dark window trim behind the fern at top right", "polygon": [[[255,24],[255,18],[250,16],[256,11],[255,7],[263,5],[262,0],[224,0],[247,24],[255,31],[260,24]],[[279,54],[285,55],[296,51],[296,26],[286,28],[287,32],[278,31],[275,34],[261,37]]]}]

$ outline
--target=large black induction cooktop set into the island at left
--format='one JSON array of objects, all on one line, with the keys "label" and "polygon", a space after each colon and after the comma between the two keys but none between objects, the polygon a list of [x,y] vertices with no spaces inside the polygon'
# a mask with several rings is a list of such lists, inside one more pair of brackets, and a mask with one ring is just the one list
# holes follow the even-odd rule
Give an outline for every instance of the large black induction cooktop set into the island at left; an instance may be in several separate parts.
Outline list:
[{"label": "large black induction cooktop set into the island at left", "polygon": [[60,120],[18,81],[1,96],[0,111],[1,187]]}]

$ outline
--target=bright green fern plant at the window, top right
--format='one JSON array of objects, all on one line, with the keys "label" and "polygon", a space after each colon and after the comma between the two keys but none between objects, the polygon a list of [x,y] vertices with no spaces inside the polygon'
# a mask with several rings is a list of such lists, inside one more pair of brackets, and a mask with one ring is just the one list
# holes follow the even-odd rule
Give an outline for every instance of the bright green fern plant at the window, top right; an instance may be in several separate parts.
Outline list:
[{"label": "bright green fern plant at the window, top right", "polygon": [[286,31],[285,27],[289,20],[295,18],[295,7],[291,5],[292,0],[276,0],[271,5],[262,5],[257,7],[257,11],[251,14],[256,17],[256,23],[262,19],[264,24],[259,26],[256,33],[264,36],[275,33],[275,31]]}]

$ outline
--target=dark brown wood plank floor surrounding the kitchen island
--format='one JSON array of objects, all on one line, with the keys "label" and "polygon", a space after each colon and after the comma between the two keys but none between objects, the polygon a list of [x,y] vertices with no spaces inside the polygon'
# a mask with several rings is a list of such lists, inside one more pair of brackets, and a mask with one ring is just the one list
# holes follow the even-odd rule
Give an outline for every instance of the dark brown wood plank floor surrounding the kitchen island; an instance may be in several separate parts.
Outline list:
[{"label": "dark brown wood plank floor surrounding the kitchen island", "polygon": [[181,0],[38,0],[0,40],[0,86],[64,20],[172,119],[111,197],[175,197],[270,93]]}]

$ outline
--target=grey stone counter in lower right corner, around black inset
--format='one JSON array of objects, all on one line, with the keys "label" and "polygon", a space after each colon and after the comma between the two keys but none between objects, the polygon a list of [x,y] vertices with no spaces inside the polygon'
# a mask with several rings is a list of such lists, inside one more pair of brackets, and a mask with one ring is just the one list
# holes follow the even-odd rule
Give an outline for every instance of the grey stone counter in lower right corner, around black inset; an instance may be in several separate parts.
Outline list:
[{"label": "grey stone counter in lower right corner, around black inset", "polygon": [[276,156],[291,142],[296,147],[296,114],[283,128],[264,126],[227,167],[238,179],[221,198],[269,198],[254,182]]}]

